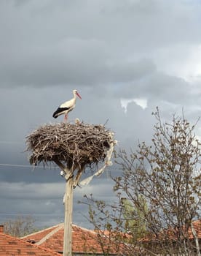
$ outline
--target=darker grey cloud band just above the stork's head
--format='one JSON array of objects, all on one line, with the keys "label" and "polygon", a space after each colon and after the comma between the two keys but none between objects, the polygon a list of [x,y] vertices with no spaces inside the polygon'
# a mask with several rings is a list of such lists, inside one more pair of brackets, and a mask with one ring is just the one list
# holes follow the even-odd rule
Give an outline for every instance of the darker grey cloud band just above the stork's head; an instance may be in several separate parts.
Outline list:
[{"label": "darker grey cloud band just above the stork's head", "polygon": [[143,77],[155,68],[148,59],[107,64],[108,56],[97,42],[72,41],[71,46],[68,42],[63,45],[69,50],[63,51],[58,47],[50,52],[46,49],[45,52],[42,50],[25,56],[17,53],[14,61],[7,59],[1,63],[1,86],[97,86],[100,83],[127,83]]}]

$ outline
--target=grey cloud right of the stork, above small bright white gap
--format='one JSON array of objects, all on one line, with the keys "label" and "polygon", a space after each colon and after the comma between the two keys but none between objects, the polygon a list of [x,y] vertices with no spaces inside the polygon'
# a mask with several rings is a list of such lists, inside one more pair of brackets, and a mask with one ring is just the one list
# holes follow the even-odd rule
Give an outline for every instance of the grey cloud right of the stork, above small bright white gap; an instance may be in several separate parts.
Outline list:
[{"label": "grey cloud right of the stork, above small bright white gap", "polygon": [[179,105],[185,102],[185,105],[189,105],[200,98],[199,94],[193,93],[191,83],[157,70],[122,86],[118,95],[128,99],[146,98],[149,106],[157,105],[162,101]]}]

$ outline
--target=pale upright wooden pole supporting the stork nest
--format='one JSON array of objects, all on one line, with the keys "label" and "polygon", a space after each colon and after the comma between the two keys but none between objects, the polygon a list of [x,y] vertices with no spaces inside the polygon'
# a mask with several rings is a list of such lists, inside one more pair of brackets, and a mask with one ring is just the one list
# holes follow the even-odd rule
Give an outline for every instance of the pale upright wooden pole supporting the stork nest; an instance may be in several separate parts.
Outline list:
[{"label": "pale upright wooden pole supporting the stork nest", "polygon": [[65,203],[65,220],[64,220],[64,237],[63,237],[63,256],[72,255],[72,214],[73,214],[73,185],[74,179],[66,180]]}]

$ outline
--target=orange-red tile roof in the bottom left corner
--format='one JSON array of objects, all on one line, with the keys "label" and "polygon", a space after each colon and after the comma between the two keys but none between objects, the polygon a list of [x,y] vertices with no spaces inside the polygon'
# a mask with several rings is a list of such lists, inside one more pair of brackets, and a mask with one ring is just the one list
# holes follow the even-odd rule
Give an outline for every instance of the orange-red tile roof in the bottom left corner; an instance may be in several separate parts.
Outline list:
[{"label": "orange-red tile roof in the bottom left corner", "polygon": [[59,256],[57,252],[3,233],[0,227],[0,256]]}]

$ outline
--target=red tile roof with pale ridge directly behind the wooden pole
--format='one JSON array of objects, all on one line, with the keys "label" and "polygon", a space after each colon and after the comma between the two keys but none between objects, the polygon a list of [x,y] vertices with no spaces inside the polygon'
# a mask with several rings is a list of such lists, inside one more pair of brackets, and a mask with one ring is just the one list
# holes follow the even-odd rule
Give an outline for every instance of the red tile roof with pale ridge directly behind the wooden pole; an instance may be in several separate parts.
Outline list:
[{"label": "red tile roof with pale ridge directly behind the wooden pole", "polygon": [[[55,252],[63,252],[63,223],[45,230],[25,236],[25,241],[35,241],[36,244],[52,249]],[[117,254],[116,246],[109,241],[109,238],[101,238],[104,248],[98,242],[97,233],[83,227],[73,225],[72,230],[72,251],[74,253],[96,253],[103,254],[103,250],[108,249],[111,255]]]}]

